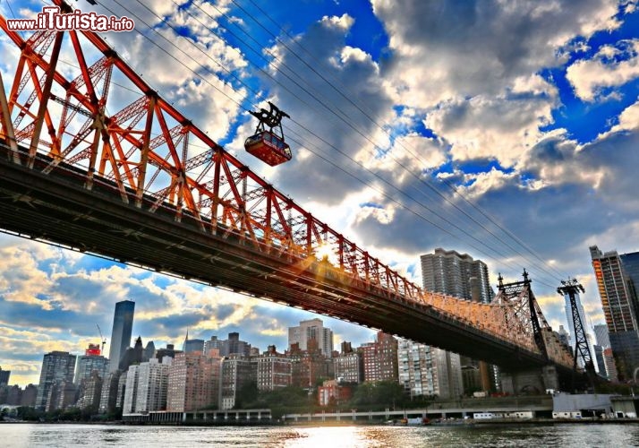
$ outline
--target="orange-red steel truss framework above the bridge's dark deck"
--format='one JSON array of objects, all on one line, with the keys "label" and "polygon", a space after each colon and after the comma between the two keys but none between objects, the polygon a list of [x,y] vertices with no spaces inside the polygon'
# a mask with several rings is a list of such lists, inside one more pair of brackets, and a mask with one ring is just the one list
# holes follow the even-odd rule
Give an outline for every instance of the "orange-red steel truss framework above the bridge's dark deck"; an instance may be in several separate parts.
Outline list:
[{"label": "orange-red steel truss framework above the bridge's dark deck", "polygon": [[[55,4],[63,12],[72,11],[61,0]],[[15,64],[9,65],[9,79],[0,78],[0,144],[7,169],[23,173],[22,177],[31,172],[38,179],[66,179],[81,185],[86,194],[96,198],[108,195],[138,211],[170,217],[175,225],[188,224],[202,236],[232,241],[263,257],[284,257],[298,275],[311,265],[317,266],[320,254],[328,252],[328,259],[320,265],[328,277],[346,285],[343,288],[365,285],[376,297],[421,306],[443,320],[501,340],[517,352],[572,366],[572,358],[549,351],[549,344],[546,349],[539,344],[539,332],[533,329],[532,314],[524,311],[524,299],[502,295],[493,304],[482,304],[423,291],[226,152],[152,90],[97,34],[44,30],[25,40],[9,30],[2,16],[0,28],[3,39],[13,43],[15,56]],[[114,79],[128,85],[125,96],[115,98],[112,94]],[[29,192],[16,193],[6,187],[4,194],[15,204],[33,205]],[[55,202],[55,197],[50,201]],[[58,225],[91,220],[91,213],[72,220],[61,218]],[[20,233],[25,226],[11,219],[0,222],[0,227]],[[127,237],[139,237],[131,228],[123,232],[128,232]],[[30,232],[30,237],[61,242],[55,235],[61,234],[53,227],[39,234]],[[101,250],[95,241],[68,244],[96,254],[114,254]],[[224,256],[211,255],[209,262]],[[188,267],[140,263],[192,276]],[[268,280],[268,273],[264,278]],[[294,277],[291,279],[293,282]],[[532,291],[526,291],[532,297]],[[268,295],[264,291],[251,294]],[[334,294],[336,310],[342,306],[339,294]],[[320,311],[317,306],[314,309]],[[321,311],[340,318],[346,315]],[[538,306],[535,313],[545,323]],[[353,320],[362,323],[357,317]],[[550,327],[543,328],[549,332]]]}]

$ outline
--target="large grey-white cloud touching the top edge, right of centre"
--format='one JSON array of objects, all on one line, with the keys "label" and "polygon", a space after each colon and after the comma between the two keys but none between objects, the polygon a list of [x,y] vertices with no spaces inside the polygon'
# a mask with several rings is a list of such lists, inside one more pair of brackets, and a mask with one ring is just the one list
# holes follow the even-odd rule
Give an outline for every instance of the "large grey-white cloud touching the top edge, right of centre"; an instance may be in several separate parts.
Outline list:
[{"label": "large grey-white cloud touching the top edge, right of centre", "polygon": [[561,65],[558,50],[575,36],[619,25],[614,0],[372,4],[394,51],[389,89],[397,102],[417,108],[498,94],[521,76]]}]

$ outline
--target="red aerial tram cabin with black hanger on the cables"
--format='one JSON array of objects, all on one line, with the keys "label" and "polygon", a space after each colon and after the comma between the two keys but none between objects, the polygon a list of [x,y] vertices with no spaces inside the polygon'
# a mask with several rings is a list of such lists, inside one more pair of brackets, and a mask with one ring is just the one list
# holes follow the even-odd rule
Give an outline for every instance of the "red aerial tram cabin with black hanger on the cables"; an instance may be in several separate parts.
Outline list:
[{"label": "red aerial tram cabin with black hanger on the cables", "polygon": [[259,119],[260,124],[255,129],[255,134],[244,142],[244,149],[264,163],[275,167],[293,157],[291,148],[284,141],[282,132],[282,118],[285,116],[290,118],[290,116],[279,110],[270,101],[268,101],[268,105],[270,110],[263,108],[260,109],[260,112],[251,111],[251,115]]}]

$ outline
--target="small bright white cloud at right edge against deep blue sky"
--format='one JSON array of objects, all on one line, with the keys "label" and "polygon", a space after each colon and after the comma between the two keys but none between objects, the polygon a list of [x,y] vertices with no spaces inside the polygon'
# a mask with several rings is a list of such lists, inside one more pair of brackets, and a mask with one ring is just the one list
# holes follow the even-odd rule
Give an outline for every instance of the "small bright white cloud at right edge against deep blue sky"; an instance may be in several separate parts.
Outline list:
[{"label": "small bright white cloud at right edge against deep blue sky", "polygon": [[575,95],[584,101],[616,95],[609,90],[639,77],[639,39],[604,45],[592,59],[580,59],[570,65],[566,76]]}]

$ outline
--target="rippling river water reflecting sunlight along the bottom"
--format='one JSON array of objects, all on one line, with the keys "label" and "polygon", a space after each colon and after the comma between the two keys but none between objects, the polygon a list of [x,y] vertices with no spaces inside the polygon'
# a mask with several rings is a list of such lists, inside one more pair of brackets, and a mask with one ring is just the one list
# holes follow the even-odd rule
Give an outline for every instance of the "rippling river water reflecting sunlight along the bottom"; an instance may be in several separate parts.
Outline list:
[{"label": "rippling river water reflecting sunlight along the bottom", "polygon": [[639,424],[433,426],[0,425],[0,446],[401,447],[639,446]]}]

